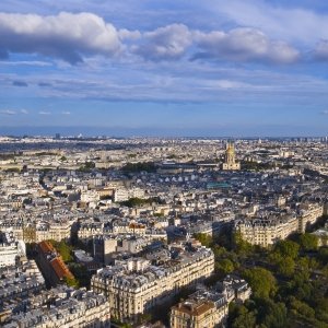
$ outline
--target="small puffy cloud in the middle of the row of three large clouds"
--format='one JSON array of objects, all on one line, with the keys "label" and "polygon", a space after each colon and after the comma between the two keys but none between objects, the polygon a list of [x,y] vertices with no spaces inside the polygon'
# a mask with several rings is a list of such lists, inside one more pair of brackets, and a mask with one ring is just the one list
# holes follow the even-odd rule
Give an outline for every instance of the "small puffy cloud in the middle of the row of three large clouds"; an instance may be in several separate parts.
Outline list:
[{"label": "small puffy cloud in the middle of the row of three large clouds", "polygon": [[192,38],[184,24],[172,24],[142,35],[140,45],[132,51],[149,60],[173,60],[183,57]]}]

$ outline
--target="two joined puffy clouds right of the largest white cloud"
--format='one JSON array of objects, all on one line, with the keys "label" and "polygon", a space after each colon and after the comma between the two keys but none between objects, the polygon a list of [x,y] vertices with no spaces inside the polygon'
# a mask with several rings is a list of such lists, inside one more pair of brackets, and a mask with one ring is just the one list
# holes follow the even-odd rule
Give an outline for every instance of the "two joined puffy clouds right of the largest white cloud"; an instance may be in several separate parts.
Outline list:
[{"label": "two joined puffy clouds right of the largest white cloud", "polygon": [[179,59],[189,49],[194,51],[195,47],[198,52],[191,55],[192,58],[290,63],[300,57],[300,52],[286,43],[272,40],[256,28],[203,33],[189,30],[183,24],[144,33],[141,43],[132,46],[132,51],[148,60],[160,61]]}]

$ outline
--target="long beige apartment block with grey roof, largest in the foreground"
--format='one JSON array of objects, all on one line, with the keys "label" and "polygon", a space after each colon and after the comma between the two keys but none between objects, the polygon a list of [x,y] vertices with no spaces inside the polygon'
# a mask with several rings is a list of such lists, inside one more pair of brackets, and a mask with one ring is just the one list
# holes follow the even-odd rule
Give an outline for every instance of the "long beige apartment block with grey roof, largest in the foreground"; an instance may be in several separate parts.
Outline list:
[{"label": "long beige apartment block with grey roof, largest in the foreground", "polygon": [[109,298],[110,315],[121,321],[136,321],[156,305],[176,295],[214,271],[214,255],[206,247],[185,251],[161,266],[152,266],[143,258],[119,261],[101,269],[92,278],[94,292]]}]

